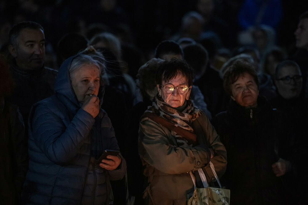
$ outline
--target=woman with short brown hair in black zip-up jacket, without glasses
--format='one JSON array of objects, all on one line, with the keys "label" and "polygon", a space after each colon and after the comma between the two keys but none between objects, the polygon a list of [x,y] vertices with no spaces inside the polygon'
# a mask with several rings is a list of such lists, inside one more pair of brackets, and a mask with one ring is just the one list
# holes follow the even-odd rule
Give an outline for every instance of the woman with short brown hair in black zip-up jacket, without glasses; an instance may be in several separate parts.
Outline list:
[{"label": "woman with short brown hair in black zip-up jacket, without glasses", "polygon": [[224,73],[231,99],[213,125],[227,150],[228,164],[221,179],[236,205],[285,204],[282,180],[291,169],[288,125],[265,97],[253,65],[237,60]]}]

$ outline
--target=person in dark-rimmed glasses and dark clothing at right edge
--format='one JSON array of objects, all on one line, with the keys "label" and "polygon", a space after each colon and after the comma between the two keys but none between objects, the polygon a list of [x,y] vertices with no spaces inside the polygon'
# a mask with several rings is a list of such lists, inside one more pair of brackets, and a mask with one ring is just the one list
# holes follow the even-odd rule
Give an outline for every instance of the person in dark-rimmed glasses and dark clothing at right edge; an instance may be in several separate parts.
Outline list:
[{"label": "person in dark-rimmed glasses and dark clothing at right edge", "polygon": [[308,168],[306,163],[308,160],[308,104],[304,95],[301,95],[303,79],[298,64],[290,60],[279,63],[276,67],[274,82],[278,95],[272,100],[272,105],[285,112],[288,118],[287,128],[292,133],[290,140],[282,142],[288,148],[281,151],[292,164],[290,172],[283,176],[282,180],[287,187],[294,187],[290,195],[299,199],[296,203],[306,204],[306,199],[302,199],[301,196],[308,191],[306,184],[302,183],[308,180],[306,173]]}]

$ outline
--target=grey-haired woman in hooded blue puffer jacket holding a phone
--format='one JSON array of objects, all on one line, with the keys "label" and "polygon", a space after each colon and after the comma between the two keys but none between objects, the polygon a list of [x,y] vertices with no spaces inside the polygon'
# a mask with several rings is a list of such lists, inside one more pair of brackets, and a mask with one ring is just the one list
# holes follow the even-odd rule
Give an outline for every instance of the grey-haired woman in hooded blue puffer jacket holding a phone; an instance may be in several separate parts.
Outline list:
[{"label": "grey-haired woman in hooded blue puffer jacket holding a phone", "polygon": [[22,197],[30,204],[112,204],[109,180],[122,179],[125,159],[107,113],[97,56],[78,54],[59,69],[55,94],[34,104],[29,117],[29,170]]}]

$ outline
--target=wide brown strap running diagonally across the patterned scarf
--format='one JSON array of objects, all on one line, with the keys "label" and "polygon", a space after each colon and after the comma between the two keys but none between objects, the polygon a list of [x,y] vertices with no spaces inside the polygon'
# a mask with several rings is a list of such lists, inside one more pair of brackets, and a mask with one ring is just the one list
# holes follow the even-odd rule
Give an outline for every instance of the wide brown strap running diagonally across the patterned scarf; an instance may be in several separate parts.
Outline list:
[{"label": "wide brown strap running diagonally across the patterned scarf", "polygon": [[188,130],[185,130],[181,127],[177,127],[172,122],[169,122],[168,120],[166,120],[166,119],[164,119],[160,116],[157,116],[152,112],[145,112],[141,116],[141,119],[145,118],[145,117],[148,117],[151,120],[153,120],[154,122],[156,122],[156,123],[168,128],[168,129],[176,132],[178,135],[184,137],[189,143],[191,143],[193,145],[195,145],[197,143],[197,135],[196,134],[189,132]]}]

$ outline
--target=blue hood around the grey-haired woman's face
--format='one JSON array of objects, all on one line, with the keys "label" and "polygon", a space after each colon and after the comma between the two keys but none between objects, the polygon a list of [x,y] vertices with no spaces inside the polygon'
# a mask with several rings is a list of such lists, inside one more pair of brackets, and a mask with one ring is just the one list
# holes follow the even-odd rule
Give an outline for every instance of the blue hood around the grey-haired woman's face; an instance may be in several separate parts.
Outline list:
[{"label": "blue hood around the grey-haired woman's face", "polygon": [[[59,97],[59,99],[71,110],[81,108],[80,103],[78,102],[77,96],[73,90],[71,85],[71,79],[69,75],[69,68],[71,67],[71,63],[76,56],[69,57],[66,59],[60,66],[58,76],[55,80],[54,91]],[[105,86],[102,78],[100,77],[100,85],[99,85],[99,105],[103,104],[103,96],[104,96]]]}]

